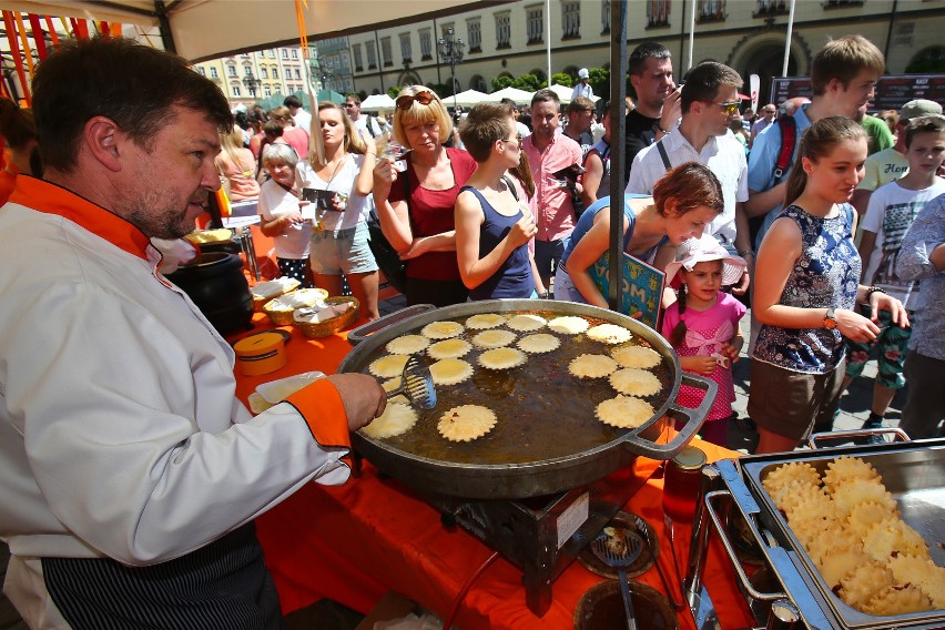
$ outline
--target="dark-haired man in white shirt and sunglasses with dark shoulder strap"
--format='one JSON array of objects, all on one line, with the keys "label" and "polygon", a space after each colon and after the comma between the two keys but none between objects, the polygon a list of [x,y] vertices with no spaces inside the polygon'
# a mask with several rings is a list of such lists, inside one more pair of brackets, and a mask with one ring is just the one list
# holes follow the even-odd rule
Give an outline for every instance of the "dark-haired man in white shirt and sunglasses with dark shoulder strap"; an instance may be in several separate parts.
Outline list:
[{"label": "dark-haired man in white shirt and sunglasses with dark shoulder strap", "polygon": [[[627,183],[628,193],[652,194],[670,169],[683,162],[708,166],[722,184],[725,210],[705,232],[730,254],[751,248],[743,207],[748,200],[748,162],[742,144],[729,131],[741,105],[741,87],[739,73],[722,63],[707,61],[690,70],[681,92],[679,126],[637,154]],[[743,276],[734,292],[743,294],[746,288],[748,277]]]}]

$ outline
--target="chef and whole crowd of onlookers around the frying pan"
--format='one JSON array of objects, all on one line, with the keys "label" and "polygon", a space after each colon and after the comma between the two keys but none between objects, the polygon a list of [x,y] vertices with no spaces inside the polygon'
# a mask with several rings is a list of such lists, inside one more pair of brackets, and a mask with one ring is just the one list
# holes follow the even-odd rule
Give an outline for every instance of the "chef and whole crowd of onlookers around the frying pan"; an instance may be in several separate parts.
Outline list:
[{"label": "chef and whole crowd of onlookers around the frying pan", "polygon": [[[0,535],[23,616],[277,627],[252,519],[309,479],[344,481],[348,431],[384,410],[378,383],[353,374],[256,417],[234,398],[232,348],[156,271],[150,244],[186,235],[224,184],[255,206],[282,274],[349,289],[366,319],[378,317],[373,213],[407,302],[437,306],[550,295],[607,306],[589,270],[618,228],[624,253],[665,274],[660,332],[682,368],[719,384],[705,439],[728,439],[749,307],[758,453],[830,430],[874,348],[866,426],[882,426],[907,384],[901,427],[939,436],[941,105],[866,115],[884,62],[858,35],[816,53],[809,102],[764,105],[756,120],[724,64],[700,63],[677,87],[669,51],[648,42],[629,67],[636,101],[614,139],[609,108],[595,129],[586,71],[566,111],[539,90],[525,116],[502,102],[455,118],[409,85],[388,123],[356,95],[315,114],[289,96],[234,116],[184,60],[120,38],[43,61],[32,111],[0,101],[0,233],[17,234],[0,248]],[[613,142],[628,156],[620,226]],[[702,395],[684,388],[680,402]],[[84,589],[89,576],[106,587]]]}]

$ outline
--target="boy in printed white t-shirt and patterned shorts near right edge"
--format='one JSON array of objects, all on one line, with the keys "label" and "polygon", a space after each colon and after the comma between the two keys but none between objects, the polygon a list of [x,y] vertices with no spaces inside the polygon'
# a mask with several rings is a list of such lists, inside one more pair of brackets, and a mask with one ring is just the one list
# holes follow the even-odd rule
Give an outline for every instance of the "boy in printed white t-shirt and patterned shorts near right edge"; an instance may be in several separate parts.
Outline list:
[{"label": "boy in printed white t-shirt and patterned shorts near right edge", "polygon": [[[937,114],[911,120],[905,128],[905,148],[908,173],[880,186],[870,197],[861,225],[860,256],[863,258],[863,284],[900,298],[912,318],[918,286],[896,275],[896,257],[903,237],[922,207],[945,193],[945,180],[935,174],[945,161],[945,116]],[[870,350],[874,346],[880,347],[873,405],[863,428],[883,426],[883,417],[896,389],[905,385],[903,363],[912,329],[891,326],[884,312],[880,314],[880,335],[873,342],[847,342],[844,388],[863,373]],[[872,439],[882,441],[880,436]]]}]

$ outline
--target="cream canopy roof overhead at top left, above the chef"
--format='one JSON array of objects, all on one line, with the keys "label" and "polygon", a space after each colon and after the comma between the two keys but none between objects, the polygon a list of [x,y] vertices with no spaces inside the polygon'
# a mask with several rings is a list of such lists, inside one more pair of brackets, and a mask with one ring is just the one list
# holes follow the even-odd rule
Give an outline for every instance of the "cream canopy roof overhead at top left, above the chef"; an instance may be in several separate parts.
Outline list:
[{"label": "cream canopy roof overhead at top left, above the chef", "polygon": [[[421,14],[448,16],[481,0],[308,0],[305,29],[313,39],[364,32]],[[3,9],[38,16],[84,18],[142,27],[153,39],[163,19],[177,54],[202,61],[236,52],[298,42],[291,0],[4,0]],[[163,18],[163,19],[162,19]]]}]

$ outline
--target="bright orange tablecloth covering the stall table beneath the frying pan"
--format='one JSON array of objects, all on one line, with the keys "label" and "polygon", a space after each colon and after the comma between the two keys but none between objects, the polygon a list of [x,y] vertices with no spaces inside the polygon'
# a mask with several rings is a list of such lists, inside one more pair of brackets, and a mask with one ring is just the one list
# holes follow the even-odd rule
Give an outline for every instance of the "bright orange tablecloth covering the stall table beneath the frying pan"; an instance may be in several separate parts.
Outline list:
[{"label": "bright orange tablecloth covering the stall table beneath the frying pan", "polygon": [[[263,322],[262,316],[254,321]],[[237,393],[245,400],[266,380],[313,369],[331,374],[349,349],[343,335],[305,339],[293,329],[293,339],[286,346],[288,365],[262,377],[237,376]],[[695,444],[710,461],[736,456],[710,444]],[[657,464],[638,459],[638,472],[649,476]],[[640,515],[656,529],[665,569],[671,567],[671,549],[663,535],[661,497],[662,480],[650,479],[624,509]],[[344,486],[309,484],[260,517],[256,525],[285,612],[326,597],[367,612],[385,592],[396,590],[445,617],[469,576],[492,553],[465,530],[446,529],[434,508],[406,486],[378,477],[369,464],[360,477]],[[675,528],[682,570],[690,529],[687,525]],[[636,579],[663,591],[656,568]],[[578,600],[599,581],[600,577],[573,562],[555,581],[550,610],[538,618],[526,607],[521,571],[499,558],[472,585],[455,623],[470,629],[573,628]],[[705,583],[723,628],[752,624],[735,589],[734,575],[714,546]],[[694,628],[688,611],[679,619],[681,628]]]}]

